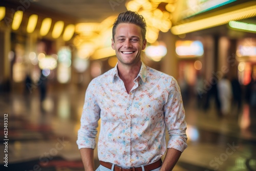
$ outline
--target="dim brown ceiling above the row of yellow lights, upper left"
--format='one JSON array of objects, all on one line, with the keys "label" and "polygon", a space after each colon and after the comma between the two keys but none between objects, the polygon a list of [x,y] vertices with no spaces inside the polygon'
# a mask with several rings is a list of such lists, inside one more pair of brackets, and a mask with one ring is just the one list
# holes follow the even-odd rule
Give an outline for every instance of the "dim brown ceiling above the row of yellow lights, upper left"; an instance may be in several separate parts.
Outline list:
[{"label": "dim brown ceiling above the row of yellow lights, upper left", "polygon": [[[50,14],[63,14],[75,18],[77,22],[100,23],[111,15],[126,11],[126,0],[1,0],[2,3],[13,3],[16,7],[27,7],[26,10],[38,9]],[[119,3],[118,3],[119,2]],[[0,2],[1,3],[1,2]],[[14,10],[15,7],[13,7]]]}]

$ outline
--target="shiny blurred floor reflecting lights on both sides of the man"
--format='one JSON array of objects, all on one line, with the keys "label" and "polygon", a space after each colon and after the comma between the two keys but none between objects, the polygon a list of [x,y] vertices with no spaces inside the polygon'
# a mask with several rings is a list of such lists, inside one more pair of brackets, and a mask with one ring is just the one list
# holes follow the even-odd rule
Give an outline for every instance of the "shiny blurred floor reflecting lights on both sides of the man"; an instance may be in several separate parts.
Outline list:
[{"label": "shiny blurred floor reflecting lights on both sides of the man", "polygon": [[[85,91],[50,89],[42,102],[37,88],[0,93],[0,170],[83,170],[76,138]],[[256,110],[233,105],[219,117],[210,104],[205,111],[186,103],[188,147],[174,170],[256,170]]]}]

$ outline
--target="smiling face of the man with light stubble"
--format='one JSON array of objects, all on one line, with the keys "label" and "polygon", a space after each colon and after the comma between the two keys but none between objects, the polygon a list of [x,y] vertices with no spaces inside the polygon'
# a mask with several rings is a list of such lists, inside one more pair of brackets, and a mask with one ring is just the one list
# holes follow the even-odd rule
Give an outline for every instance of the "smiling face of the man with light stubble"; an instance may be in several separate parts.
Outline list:
[{"label": "smiling face of the man with light stubble", "polygon": [[141,28],[135,24],[121,23],[116,27],[112,48],[116,51],[118,62],[122,65],[140,63],[141,51],[146,47],[142,40]]}]

